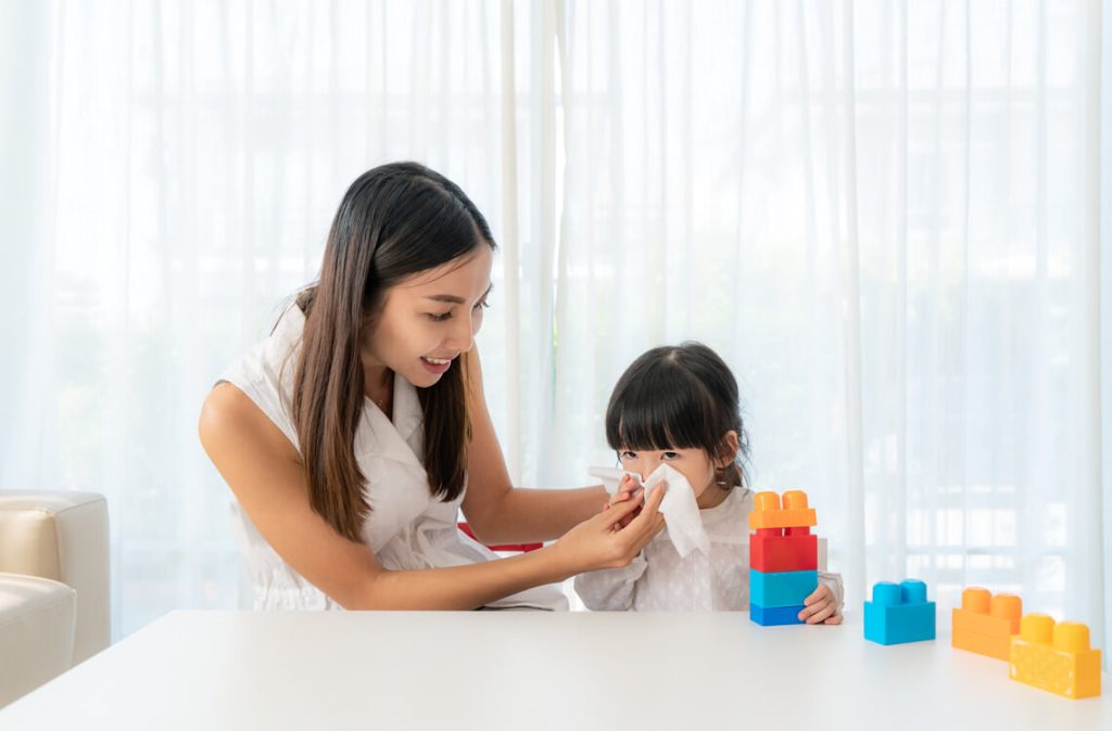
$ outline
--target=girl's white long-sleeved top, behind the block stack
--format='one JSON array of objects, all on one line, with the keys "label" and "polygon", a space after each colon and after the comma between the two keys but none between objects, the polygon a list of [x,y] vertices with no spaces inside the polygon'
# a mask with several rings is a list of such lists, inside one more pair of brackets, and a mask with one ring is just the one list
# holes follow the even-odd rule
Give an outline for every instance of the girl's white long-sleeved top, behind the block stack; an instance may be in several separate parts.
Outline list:
[{"label": "girl's white long-sleeved top, behind the block stack", "polygon": [[[738,611],[749,609],[749,512],[753,492],[734,488],[718,505],[699,510],[709,553],[681,558],[661,531],[624,569],[575,578],[575,591],[595,611]],[[667,520],[667,519],[665,519]],[[842,607],[842,578],[818,573]]]}]

